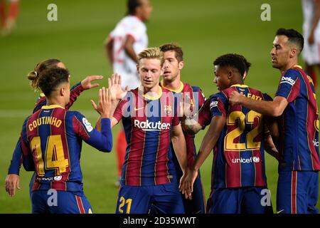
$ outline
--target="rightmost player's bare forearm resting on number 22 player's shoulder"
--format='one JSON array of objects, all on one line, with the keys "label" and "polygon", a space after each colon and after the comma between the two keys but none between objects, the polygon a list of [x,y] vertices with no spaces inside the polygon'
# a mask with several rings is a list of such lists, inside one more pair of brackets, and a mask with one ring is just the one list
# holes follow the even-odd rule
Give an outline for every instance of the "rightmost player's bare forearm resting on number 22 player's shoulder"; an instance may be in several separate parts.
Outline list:
[{"label": "rightmost player's bare forearm resting on number 22 player's shoulder", "polygon": [[245,97],[237,91],[233,91],[230,94],[229,102],[231,105],[243,105],[262,115],[271,115],[274,117],[282,115],[288,105],[287,99],[282,96],[276,96],[272,101],[254,100]]}]

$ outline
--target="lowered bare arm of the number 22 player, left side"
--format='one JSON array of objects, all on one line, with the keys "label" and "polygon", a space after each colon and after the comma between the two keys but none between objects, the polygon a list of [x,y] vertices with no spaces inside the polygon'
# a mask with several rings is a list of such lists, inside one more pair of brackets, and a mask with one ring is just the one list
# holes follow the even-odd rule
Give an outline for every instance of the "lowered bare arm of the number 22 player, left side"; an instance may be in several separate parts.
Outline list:
[{"label": "lowered bare arm of the number 22 player, left side", "polygon": [[191,192],[193,192],[193,182],[198,176],[201,165],[206,160],[213,147],[215,147],[220,137],[220,133],[225,125],[225,119],[226,118],[223,115],[215,115],[211,119],[209,129],[201,142],[198,155],[191,167],[191,172],[188,172],[187,181],[190,183]]}]

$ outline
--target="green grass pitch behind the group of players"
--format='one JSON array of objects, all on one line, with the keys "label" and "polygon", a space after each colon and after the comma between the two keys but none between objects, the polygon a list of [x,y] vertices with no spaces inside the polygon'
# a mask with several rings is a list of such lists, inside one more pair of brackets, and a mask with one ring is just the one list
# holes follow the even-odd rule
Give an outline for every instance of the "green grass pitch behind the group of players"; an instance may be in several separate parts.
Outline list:
[{"label": "green grass pitch behind the group of players", "polygon": [[[227,4],[228,2],[228,4]],[[72,83],[87,75],[101,74],[107,85],[112,69],[102,43],[126,11],[125,1],[63,1],[58,6],[58,21],[47,20],[48,0],[21,0],[16,31],[0,37],[0,213],[29,213],[28,182],[31,173],[21,170],[21,190],[8,197],[4,180],[23,120],[33,110],[37,93],[28,86],[26,74],[46,58],[62,60],[71,72]],[[302,31],[300,1],[152,1],[154,12],[147,24],[149,46],[176,41],[183,47],[186,65],[182,79],[200,86],[208,96],[213,85],[213,60],[223,53],[240,53],[251,63],[247,84],[274,95],[279,71],[271,67],[270,49],[279,27]],[[271,6],[271,21],[262,21],[260,6]],[[90,99],[97,100],[97,88],[85,91],[73,106],[91,123],[97,120]],[[116,135],[117,127],[113,133]],[[196,137],[199,147],[205,131]],[[206,198],[210,193],[212,156],[201,168]],[[117,179],[114,151],[105,154],[83,144],[81,157],[85,195],[94,212],[114,213]],[[267,179],[275,206],[277,162],[266,155]],[[320,204],[318,204],[320,207]]]}]

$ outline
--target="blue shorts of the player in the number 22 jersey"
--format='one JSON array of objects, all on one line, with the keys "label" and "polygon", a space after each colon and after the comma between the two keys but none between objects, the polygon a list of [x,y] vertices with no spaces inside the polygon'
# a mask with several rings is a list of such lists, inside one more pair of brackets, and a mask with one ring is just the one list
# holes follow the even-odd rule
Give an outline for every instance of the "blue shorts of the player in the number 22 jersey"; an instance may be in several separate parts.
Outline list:
[{"label": "blue shorts of the player in the number 22 jersey", "polygon": [[265,187],[213,189],[207,202],[207,213],[272,214],[271,195]]}]

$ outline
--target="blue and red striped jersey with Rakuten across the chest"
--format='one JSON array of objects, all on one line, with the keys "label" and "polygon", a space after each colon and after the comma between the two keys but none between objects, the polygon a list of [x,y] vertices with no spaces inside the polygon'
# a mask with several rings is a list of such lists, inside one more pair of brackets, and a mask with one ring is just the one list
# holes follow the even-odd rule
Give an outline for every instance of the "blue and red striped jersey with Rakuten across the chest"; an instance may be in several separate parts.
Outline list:
[{"label": "blue and red striped jersey with Rakuten across the chest", "polygon": [[127,140],[122,185],[173,182],[171,128],[180,123],[173,93],[162,88],[159,95],[149,97],[140,88],[130,90],[118,104],[114,118],[122,120]]}]

